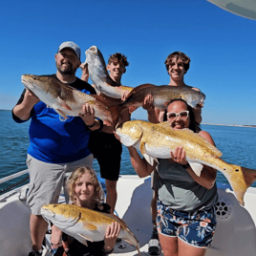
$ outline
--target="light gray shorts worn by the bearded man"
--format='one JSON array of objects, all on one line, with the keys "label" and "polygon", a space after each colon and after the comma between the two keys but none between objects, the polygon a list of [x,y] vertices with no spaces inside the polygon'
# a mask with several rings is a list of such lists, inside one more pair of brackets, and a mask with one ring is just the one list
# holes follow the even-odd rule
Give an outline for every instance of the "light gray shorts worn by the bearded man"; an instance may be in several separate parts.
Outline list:
[{"label": "light gray shorts worn by the bearded man", "polygon": [[[80,166],[93,166],[93,155],[82,160],[68,163],[49,163],[35,160],[28,155],[27,165],[30,172],[27,204],[32,214],[41,215],[41,207],[49,203],[57,203],[61,187],[73,171]],[[66,195],[65,195],[66,196]],[[66,200],[68,197],[66,196]],[[67,202],[68,203],[68,202]]]}]

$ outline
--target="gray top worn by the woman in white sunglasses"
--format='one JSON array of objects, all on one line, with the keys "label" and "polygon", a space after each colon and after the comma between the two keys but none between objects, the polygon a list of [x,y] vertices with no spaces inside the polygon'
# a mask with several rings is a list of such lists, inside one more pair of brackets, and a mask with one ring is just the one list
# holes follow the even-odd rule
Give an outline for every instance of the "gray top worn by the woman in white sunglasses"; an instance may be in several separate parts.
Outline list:
[{"label": "gray top worn by the woman in white sunglasses", "polygon": [[159,160],[159,199],[175,210],[195,211],[218,201],[216,182],[206,189],[194,181],[179,163]]}]

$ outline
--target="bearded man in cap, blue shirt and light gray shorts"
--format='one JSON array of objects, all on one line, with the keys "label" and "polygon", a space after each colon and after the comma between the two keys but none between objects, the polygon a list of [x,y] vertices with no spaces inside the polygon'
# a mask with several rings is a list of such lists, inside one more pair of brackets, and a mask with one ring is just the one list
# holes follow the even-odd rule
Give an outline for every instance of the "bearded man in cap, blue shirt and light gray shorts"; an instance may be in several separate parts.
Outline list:
[{"label": "bearded man in cap, blue shirt and light gray shorts", "polygon": [[[89,83],[75,76],[81,62],[80,48],[74,42],[59,46],[55,64],[57,71],[51,76],[86,94],[96,95]],[[92,167],[94,157],[88,147],[90,132],[102,129],[103,122],[95,118],[94,108],[88,103],[82,106],[79,117],[63,120],[28,89],[14,106],[12,117],[16,122],[31,119],[27,159],[31,179],[27,203],[32,210],[32,251],[29,256],[42,255],[48,224],[42,218],[40,208],[57,202],[65,180],[78,166]]]}]

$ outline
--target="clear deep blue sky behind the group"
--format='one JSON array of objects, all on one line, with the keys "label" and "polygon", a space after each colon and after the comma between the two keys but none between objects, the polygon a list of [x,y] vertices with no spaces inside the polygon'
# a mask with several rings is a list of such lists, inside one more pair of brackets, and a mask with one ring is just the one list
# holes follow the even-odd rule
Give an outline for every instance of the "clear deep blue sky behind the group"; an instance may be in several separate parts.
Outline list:
[{"label": "clear deep blue sky behind the group", "polygon": [[205,0],[14,0],[0,4],[0,23],[0,109],[18,100],[21,75],[55,73],[54,53],[72,40],[82,61],[92,45],[105,60],[124,53],[130,66],[122,84],[132,87],[168,84],[166,56],[186,53],[184,81],[206,95],[203,122],[256,125],[256,21]]}]

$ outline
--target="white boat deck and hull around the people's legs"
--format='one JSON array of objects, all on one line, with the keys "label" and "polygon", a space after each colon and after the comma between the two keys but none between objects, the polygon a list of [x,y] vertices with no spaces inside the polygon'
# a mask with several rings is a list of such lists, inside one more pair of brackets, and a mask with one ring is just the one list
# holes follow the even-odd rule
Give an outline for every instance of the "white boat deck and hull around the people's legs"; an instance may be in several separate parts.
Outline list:
[{"label": "white boat deck and hull around the people's legs", "polygon": [[[4,178],[0,183],[11,178]],[[128,224],[139,240],[140,255],[149,255],[147,243],[152,232],[150,179],[122,175],[117,181],[117,215]],[[0,256],[25,256],[31,250],[31,211],[26,205],[27,190],[28,185],[23,185],[0,196]],[[228,184],[218,183],[218,193],[218,224],[213,245],[207,250],[206,255],[255,256],[256,188],[247,189],[245,207],[238,203]],[[59,203],[64,203],[63,194],[59,197]],[[50,234],[47,234],[44,256],[52,255],[50,247]],[[112,255],[135,256],[139,253],[135,247],[121,241],[116,244]]]}]

